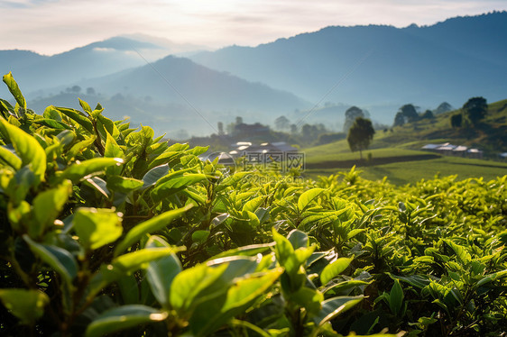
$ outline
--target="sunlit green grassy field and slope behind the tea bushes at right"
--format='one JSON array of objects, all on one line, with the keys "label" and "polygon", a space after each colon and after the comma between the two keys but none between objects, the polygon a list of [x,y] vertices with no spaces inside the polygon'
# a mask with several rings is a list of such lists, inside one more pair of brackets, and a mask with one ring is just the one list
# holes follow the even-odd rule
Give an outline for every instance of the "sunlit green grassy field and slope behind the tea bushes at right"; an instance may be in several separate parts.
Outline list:
[{"label": "sunlit green grassy field and slope behind the tea bushes at right", "polygon": [[[489,105],[484,123],[476,129],[451,128],[449,118],[458,112],[377,131],[370,148],[363,151],[363,160],[359,159],[359,152],[350,151],[346,140],[303,149],[307,165],[304,174],[318,178],[349,170],[355,165],[363,171],[364,178],[376,180],[387,177],[396,185],[415,183],[438,174],[457,175],[458,179],[482,177],[484,180],[507,175],[505,162],[447,157],[419,150],[425,144],[450,141],[456,145],[484,149],[490,155],[502,151],[507,141],[507,100]],[[368,160],[368,157],[371,159]]]}]

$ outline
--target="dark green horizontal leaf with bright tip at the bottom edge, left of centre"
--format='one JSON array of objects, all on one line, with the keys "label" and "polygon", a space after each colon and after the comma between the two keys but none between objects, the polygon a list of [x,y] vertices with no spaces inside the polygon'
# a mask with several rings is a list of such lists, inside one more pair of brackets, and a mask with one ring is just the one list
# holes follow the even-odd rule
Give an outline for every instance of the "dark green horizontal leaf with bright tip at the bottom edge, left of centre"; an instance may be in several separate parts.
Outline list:
[{"label": "dark green horizontal leaf with bright tip at the bottom edge, left of centre", "polygon": [[106,310],[88,325],[85,336],[101,337],[108,333],[136,327],[145,323],[160,322],[167,318],[161,312],[146,305],[123,305]]}]

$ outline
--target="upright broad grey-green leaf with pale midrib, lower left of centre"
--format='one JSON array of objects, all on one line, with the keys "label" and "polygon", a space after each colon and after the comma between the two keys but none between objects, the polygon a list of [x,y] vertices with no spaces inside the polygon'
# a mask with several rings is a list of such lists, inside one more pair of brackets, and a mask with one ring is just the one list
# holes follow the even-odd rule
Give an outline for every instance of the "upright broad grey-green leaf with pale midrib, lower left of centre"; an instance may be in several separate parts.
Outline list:
[{"label": "upright broad grey-green leaf with pale midrib, lower left of centre", "polygon": [[[146,243],[146,248],[169,247],[166,241],[153,235]],[[163,257],[160,260],[150,262],[146,271],[148,283],[152,289],[153,296],[166,309],[169,308],[169,296],[172,280],[183,270],[181,262],[176,254]]]}]

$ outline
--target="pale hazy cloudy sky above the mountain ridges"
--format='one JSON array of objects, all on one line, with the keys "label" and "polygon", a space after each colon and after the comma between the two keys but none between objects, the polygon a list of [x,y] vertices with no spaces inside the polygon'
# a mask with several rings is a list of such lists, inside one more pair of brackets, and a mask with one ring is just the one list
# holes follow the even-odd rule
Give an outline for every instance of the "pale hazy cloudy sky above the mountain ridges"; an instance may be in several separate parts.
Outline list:
[{"label": "pale hazy cloudy sky above the mountain ridges", "polygon": [[328,25],[433,24],[507,10],[507,0],[0,0],[0,50],[51,55],[141,32],[217,48]]}]

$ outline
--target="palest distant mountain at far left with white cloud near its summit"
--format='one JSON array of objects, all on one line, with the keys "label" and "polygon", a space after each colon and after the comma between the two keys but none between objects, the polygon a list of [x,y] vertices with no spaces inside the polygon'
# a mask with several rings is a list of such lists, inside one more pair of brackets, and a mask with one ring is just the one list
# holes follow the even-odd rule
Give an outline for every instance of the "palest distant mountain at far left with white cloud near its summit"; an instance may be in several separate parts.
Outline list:
[{"label": "palest distant mountain at far left with white cloud near its summit", "polygon": [[[27,96],[43,96],[51,87],[143,66],[171,51],[191,48],[191,45],[171,44],[171,41],[137,34],[97,41],[51,57],[26,50],[0,50],[0,71],[2,74],[12,71]],[[0,95],[6,93],[5,87],[0,88]]]}]

